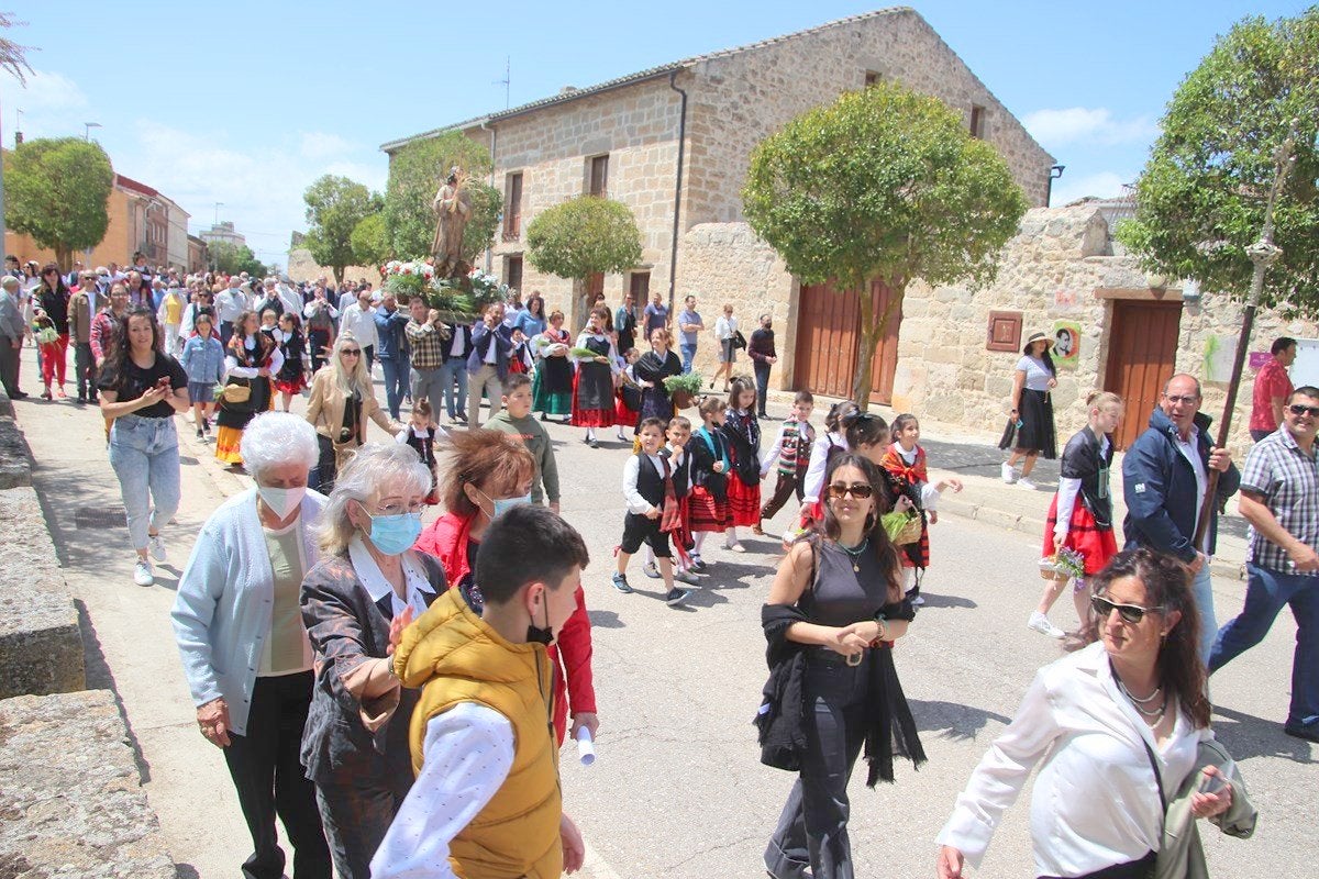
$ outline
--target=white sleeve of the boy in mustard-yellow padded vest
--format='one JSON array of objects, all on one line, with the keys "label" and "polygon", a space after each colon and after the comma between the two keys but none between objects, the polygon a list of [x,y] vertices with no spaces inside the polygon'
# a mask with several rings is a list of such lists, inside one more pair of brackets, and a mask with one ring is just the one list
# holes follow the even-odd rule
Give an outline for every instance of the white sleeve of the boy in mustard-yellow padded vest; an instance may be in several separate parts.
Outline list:
[{"label": "white sleeve of the boy in mustard-yellow padded vest", "polygon": [[371,859],[372,879],[455,879],[448,843],[472,822],[513,767],[513,725],[463,702],[426,723],[422,767]]}]

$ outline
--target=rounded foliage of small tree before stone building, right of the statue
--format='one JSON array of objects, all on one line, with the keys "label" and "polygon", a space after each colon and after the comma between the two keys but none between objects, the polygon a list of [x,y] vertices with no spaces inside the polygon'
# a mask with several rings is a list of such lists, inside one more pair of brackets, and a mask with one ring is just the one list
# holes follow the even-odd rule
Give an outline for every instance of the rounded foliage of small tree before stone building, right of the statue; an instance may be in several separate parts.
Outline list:
[{"label": "rounded foliage of small tree before stone building, right of the statue", "polygon": [[586,282],[641,262],[641,232],[627,204],[579,195],[536,215],[526,227],[526,258],[537,271]]}]

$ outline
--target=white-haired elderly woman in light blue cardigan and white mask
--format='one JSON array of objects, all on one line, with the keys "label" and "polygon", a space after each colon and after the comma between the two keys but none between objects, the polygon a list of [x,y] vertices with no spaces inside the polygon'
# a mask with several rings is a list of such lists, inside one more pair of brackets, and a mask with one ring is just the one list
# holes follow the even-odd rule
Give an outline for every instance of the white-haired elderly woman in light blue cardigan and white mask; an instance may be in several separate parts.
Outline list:
[{"label": "white-haired elderly woman in light blue cardigan and white mask", "polygon": [[317,435],[297,415],[262,412],[243,431],[256,488],[202,526],[174,600],[174,634],[197,722],[224,762],[252,834],[243,875],[277,878],[280,816],[295,879],[330,879],[315,788],[299,750],[314,684],[302,579],[318,560],[324,497],[307,490]]}]

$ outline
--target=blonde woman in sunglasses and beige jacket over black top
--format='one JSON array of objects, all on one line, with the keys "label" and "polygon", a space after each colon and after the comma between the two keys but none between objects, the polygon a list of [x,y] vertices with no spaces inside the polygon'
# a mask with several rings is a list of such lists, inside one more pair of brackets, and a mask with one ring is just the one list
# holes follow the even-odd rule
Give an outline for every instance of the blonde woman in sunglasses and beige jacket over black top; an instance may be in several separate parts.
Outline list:
[{"label": "blonde woman in sunglasses and beige jacket over black top", "polygon": [[368,418],[390,436],[405,430],[380,409],[363,347],[347,332],[335,340],[330,362],[311,380],[306,418],[317,430],[319,448],[314,484],[326,494],[334,490],[339,468],[367,441]]}]

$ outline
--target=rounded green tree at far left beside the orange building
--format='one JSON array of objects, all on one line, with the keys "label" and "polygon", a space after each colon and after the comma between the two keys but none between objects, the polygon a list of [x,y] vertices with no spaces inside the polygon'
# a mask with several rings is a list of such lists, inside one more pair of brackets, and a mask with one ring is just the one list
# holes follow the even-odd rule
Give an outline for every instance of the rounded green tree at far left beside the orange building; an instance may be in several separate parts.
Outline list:
[{"label": "rounded green tree at far left beside the orange building", "polygon": [[4,183],[5,223],[54,250],[61,268],[71,268],[74,250],[106,237],[115,171],[99,144],[77,137],[20,144],[5,153]]}]

